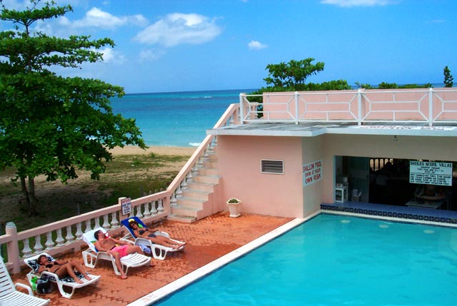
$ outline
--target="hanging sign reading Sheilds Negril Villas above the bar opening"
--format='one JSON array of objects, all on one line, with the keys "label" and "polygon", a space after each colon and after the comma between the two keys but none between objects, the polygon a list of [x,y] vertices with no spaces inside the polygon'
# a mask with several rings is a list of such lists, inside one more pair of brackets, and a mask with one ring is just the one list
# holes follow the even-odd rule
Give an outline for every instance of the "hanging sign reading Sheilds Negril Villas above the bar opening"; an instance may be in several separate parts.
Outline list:
[{"label": "hanging sign reading Sheilds Negril Villas above the bar opening", "polygon": [[409,183],[452,185],[452,163],[409,161]]}]

